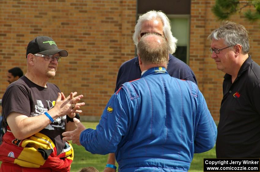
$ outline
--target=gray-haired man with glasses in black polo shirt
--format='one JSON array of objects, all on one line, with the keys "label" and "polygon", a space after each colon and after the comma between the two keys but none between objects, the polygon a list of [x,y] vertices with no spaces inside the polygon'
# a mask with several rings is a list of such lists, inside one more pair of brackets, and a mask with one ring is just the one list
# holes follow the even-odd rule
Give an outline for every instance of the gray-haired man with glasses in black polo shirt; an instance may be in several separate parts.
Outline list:
[{"label": "gray-haired man with glasses in black polo shirt", "polygon": [[211,58],[225,72],[217,158],[260,158],[260,66],[249,52],[244,26],[229,21],[208,36]]}]

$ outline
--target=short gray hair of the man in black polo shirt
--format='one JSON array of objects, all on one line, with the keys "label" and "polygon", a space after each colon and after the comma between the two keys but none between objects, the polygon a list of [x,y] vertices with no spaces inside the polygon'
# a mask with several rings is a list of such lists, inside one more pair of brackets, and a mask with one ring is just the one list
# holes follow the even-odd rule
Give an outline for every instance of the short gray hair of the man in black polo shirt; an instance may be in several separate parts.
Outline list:
[{"label": "short gray hair of the man in black polo shirt", "polygon": [[232,23],[230,21],[223,21],[218,29],[215,29],[210,33],[208,39],[223,39],[227,46],[240,44],[244,54],[249,52],[248,32],[241,24]]}]

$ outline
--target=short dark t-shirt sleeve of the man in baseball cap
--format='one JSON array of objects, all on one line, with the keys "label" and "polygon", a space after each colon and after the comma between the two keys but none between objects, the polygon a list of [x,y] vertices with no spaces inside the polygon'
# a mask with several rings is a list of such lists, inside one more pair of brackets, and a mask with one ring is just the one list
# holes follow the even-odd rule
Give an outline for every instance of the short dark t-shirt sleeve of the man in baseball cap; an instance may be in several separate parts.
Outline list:
[{"label": "short dark t-shirt sleeve of the man in baseball cap", "polygon": [[30,100],[28,91],[17,85],[7,88],[2,98],[4,121],[11,112],[18,112],[30,117]]}]

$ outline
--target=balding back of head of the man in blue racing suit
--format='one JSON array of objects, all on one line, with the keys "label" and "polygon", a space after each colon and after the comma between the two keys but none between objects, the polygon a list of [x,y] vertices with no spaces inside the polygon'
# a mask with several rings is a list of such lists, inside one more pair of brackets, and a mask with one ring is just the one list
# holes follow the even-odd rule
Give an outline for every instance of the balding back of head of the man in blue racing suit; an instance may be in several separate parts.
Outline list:
[{"label": "balding back of head of the man in blue racing suit", "polygon": [[137,45],[137,53],[145,64],[167,66],[169,62],[169,45],[166,39],[153,33],[141,37]]}]

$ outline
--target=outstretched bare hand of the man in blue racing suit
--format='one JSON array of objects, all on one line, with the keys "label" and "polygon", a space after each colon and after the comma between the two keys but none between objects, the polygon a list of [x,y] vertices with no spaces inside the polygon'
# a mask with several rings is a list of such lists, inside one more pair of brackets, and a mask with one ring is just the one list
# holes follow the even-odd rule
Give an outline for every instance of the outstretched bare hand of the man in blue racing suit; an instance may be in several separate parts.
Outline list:
[{"label": "outstretched bare hand of the man in blue racing suit", "polygon": [[86,128],[84,125],[78,120],[77,118],[73,118],[77,128],[71,132],[64,132],[62,135],[64,136],[62,140],[72,140],[72,143],[76,143],[77,145],[80,144],[80,133],[85,130]]}]

